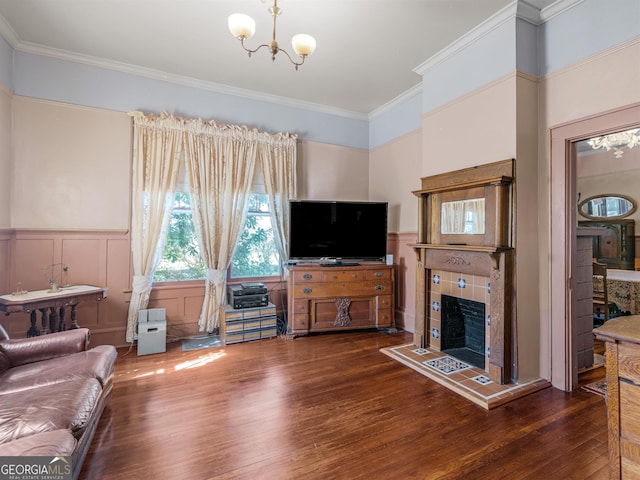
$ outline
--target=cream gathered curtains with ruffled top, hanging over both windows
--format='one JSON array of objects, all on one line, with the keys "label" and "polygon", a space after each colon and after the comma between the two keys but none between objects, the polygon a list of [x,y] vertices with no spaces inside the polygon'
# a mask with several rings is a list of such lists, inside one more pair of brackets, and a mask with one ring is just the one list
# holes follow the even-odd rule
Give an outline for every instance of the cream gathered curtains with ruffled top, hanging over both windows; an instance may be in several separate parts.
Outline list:
[{"label": "cream gathered curtains with ruffled top, hanging over both windows", "polygon": [[[136,241],[133,246],[133,239],[144,234],[144,226],[140,222],[132,222],[132,248],[138,249],[138,253],[133,253],[134,288],[127,321],[127,341],[130,342],[135,338],[138,311],[148,304],[153,272],[164,250],[166,227],[171,213],[171,202],[167,198],[173,199],[181,159],[186,164],[193,222],[206,266],[205,298],[198,321],[200,331],[213,332],[220,325],[219,307],[224,302],[226,271],[231,264],[233,250],[244,223],[256,162],[260,161],[262,165],[276,241],[282,258],[285,258],[288,243],[287,202],[296,195],[296,138],[293,135],[271,135],[247,127],[219,126],[214,122],[179,119],[167,114],[162,114],[159,118],[138,114],[134,116],[135,138],[140,135],[138,130],[148,130],[153,124],[157,124],[158,129],[151,138],[160,139],[166,135],[166,145],[171,147],[170,151],[173,151],[174,142],[178,145],[173,154],[160,152],[160,140],[156,140],[158,148],[134,148],[134,165],[157,168],[172,180],[141,183],[134,167],[134,198],[144,196],[136,189],[152,188],[152,195],[163,196],[165,203],[160,222],[162,227],[147,235],[155,235],[155,242]],[[171,125],[171,128],[167,128],[166,124]],[[175,132],[178,132],[177,140],[173,140]],[[134,141],[134,147],[136,143],[145,143],[149,136],[147,134],[137,142]],[[172,164],[171,169],[163,166],[166,163],[162,160],[164,156],[175,157],[177,165]],[[158,176],[160,175],[154,175],[154,178]],[[168,190],[164,189],[165,184]],[[134,217],[150,216],[145,203],[134,201],[133,209]],[[136,256],[149,257],[153,261],[137,263]],[[136,278],[144,278],[144,282],[137,281],[139,289],[136,289]],[[134,294],[138,299],[135,304]]]}]

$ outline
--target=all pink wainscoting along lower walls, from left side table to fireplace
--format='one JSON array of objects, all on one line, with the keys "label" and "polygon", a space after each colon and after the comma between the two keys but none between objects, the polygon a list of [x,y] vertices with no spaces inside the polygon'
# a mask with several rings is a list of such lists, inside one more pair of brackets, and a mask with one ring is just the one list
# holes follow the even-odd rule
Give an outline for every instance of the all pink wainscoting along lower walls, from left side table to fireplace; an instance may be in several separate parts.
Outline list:
[{"label": "all pink wainscoting along lower walls, from left side table to fireplace", "polygon": [[[397,326],[409,331],[413,331],[414,324],[415,254],[407,245],[414,243],[415,239],[415,233],[390,234],[388,248],[398,265]],[[15,291],[17,282],[22,282],[22,288],[27,290],[48,288],[47,272],[43,267],[54,263],[64,263],[69,267],[68,281],[71,284],[86,283],[108,289],[105,300],[99,303],[83,302],[77,307],[76,318],[80,326],[91,329],[92,345],[127,345],[125,332],[132,279],[129,233],[0,230],[0,294]],[[283,317],[287,305],[286,280],[265,280],[264,283],[269,292],[269,301],[276,306],[278,315]],[[203,334],[198,328],[203,299],[202,281],[156,284],[148,308],[167,308],[167,338],[176,340]],[[30,325],[29,316],[1,316],[0,324],[12,338],[23,338]]]}]

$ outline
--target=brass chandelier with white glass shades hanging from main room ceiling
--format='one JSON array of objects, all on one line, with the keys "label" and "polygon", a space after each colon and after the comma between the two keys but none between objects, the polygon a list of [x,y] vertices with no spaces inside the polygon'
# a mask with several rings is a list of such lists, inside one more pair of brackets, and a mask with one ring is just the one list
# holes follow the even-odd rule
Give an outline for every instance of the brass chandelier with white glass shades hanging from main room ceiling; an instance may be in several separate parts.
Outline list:
[{"label": "brass chandelier with white glass shades hanging from main room ceiling", "polygon": [[231,34],[234,37],[240,40],[242,48],[248,52],[249,57],[251,57],[252,53],[257,52],[262,47],[267,47],[271,52],[271,60],[275,61],[278,52],[282,52],[289,58],[291,63],[295,65],[296,70],[298,70],[298,67],[302,65],[307,57],[316,49],[316,39],[305,33],[299,33],[293,36],[291,39],[291,46],[293,47],[294,52],[296,52],[296,54],[298,54],[302,59],[299,62],[296,62],[291,58],[291,55],[289,55],[286,50],[278,46],[278,42],[276,40],[276,19],[278,18],[278,15],[282,13],[282,10],[278,7],[278,0],[273,1],[273,6],[269,7],[269,13],[271,13],[271,16],[273,17],[273,35],[271,37],[271,41],[269,43],[263,43],[254,50],[247,48],[244,44],[244,41],[251,38],[256,31],[256,22],[253,18],[243,13],[234,13],[233,15],[229,15],[229,30],[231,30]]}]

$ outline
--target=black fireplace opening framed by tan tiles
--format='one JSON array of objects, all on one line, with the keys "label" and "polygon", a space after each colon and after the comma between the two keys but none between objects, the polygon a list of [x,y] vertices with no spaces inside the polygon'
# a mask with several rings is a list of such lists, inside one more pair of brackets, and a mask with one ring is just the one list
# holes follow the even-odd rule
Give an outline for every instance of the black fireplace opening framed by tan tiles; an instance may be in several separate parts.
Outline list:
[{"label": "black fireplace opening framed by tan tiles", "polygon": [[440,351],[485,368],[485,304],[442,295]]}]

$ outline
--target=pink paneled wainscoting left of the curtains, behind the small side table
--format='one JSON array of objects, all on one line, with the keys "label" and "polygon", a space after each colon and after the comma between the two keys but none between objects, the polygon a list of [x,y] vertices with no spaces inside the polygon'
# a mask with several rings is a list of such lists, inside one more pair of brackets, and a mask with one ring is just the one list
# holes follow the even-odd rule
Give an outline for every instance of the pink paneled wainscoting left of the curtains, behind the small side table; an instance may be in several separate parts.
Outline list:
[{"label": "pink paneled wainscoting left of the curtains, behind the small side table", "polygon": [[[47,289],[51,270],[45,267],[64,263],[68,267],[70,284],[98,285],[108,289],[107,298],[102,302],[82,302],[76,307],[78,324],[91,329],[92,345],[126,344],[126,318],[131,294],[128,232],[16,230],[0,236],[0,266],[5,258],[3,255],[7,254],[9,274],[4,285],[0,279],[2,294],[15,291],[18,282],[26,290]],[[60,279],[60,267],[56,267],[54,275],[64,282],[64,277]],[[29,328],[29,320],[29,315],[11,314],[0,318],[0,323],[12,338],[23,338]],[[67,326],[69,323],[67,313]]]}]

